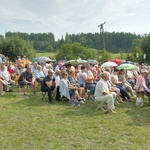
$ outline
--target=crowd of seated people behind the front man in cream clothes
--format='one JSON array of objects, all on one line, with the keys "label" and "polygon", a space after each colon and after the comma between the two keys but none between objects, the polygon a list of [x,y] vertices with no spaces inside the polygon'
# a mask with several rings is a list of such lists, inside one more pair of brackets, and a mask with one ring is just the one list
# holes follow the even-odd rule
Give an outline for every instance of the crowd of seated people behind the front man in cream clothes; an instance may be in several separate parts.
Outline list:
[{"label": "crowd of seated people behind the front man in cream clothes", "polygon": [[[116,93],[114,105],[118,105],[125,101],[133,101],[132,98],[136,94],[135,85],[140,86],[139,90],[149,93],[150,73],[143,72],[142,69],[147,70],[148,68],[142,64],[139,70],[126,71],[118,70],[115,67],[101,69],[99,64],[88,63],[65,66],[60,62],[56,65],[45,62],[26,65],[17,61],[14,63],[0,62],[0,94],[4,95],[4,91],[13,91],[14,85],[18,84],[23,87],[24,97],[28,97],[27,87],[32,86],[33,93],[36,95],[37,85],[40,84],[42,85],[41,91],[48,92],[49,102],[52,103],[53,99],[50,93],[56,92],[56,99],[61,97],[60,82],[63,79],[67,84],[71,99],[85,101],[85,93],[89,92],[89,99],[92,100],[95,99],[95,89],[97,83],[102,79],[101,75],[103,72],[107,72],[109,74],[108,89],[110,92]],[[50,84],[51,81],[53,84]]]}]

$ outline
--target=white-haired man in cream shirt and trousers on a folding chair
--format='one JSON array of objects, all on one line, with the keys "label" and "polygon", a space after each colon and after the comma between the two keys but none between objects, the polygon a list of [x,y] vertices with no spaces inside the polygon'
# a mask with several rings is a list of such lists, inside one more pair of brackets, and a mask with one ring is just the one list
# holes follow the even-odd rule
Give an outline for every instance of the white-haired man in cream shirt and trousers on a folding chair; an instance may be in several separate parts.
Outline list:
[{"label": "white-haired man in cream shirt and trousers on a folding chair", "polygon": [[108,112],[116,113],[115,111],[113,111],[113,109],[115,109],[114,102],[116,98],[116,93],[110,92],[108,80],[109,80],[109,73],[103,72],[101,74],[101,79],[96,84],[94,96],[95,99],[99,101],[101,104],[107,103]]}]

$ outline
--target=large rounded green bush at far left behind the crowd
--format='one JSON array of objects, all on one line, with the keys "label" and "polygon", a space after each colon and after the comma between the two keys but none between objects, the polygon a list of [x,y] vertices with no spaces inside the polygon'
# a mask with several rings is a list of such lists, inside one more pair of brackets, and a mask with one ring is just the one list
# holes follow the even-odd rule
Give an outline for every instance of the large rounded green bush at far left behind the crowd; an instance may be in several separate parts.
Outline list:
[{"label": "large rounded green bush at far left behind the crowd", "polygon": [[18,36],[5,38],[0,43],[2,54],[8,56],[10,60],[14,61],[17,56],[27,56],[31,59],[35,55],[32,44],[29,41],[22,40]]}]

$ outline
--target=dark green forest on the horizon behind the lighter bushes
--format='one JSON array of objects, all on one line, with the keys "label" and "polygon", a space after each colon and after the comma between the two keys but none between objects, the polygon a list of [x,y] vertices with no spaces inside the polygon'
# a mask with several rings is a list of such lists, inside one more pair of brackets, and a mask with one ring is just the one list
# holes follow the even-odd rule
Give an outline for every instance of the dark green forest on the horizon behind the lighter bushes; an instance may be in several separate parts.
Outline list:
[{"label": "dark green forest on the horizon behind the lighter bushes", "polygon": [[13,37],[18,35],[20,38],[26,41],[30,41],[34,49],[37,51],[48,51],[55,52],[60,49],[63,44],[73,44],[80,43],[84,47],[103,49],[103,36],[105,40],[105,45],[107,51],[111,53],[116,53],[120,50],[123,52],[130,52],[132,47],[132,42],[134,39],[141,40],[143,36],[131,34],[131,33],[109,33],[104,32],[103,35],[99,33],[80,33],[80,34],[68,34],[65,37],[62,36],[61,39],[55,41],[55,36],[53,33],[20,33],[20,32],[6,32],[5,37]]}]

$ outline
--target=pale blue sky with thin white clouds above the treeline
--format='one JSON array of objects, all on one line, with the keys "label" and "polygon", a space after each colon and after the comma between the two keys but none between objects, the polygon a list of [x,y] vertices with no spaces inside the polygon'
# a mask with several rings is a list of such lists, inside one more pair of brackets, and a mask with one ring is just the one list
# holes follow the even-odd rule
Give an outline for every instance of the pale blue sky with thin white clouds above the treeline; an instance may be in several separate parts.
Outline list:
[{"label": "pale blue sky with thin white clouds above the treeline", "polygon": [[5,0],[0,5],[0,34],[104,31],[150,33],[149,0]]}]

